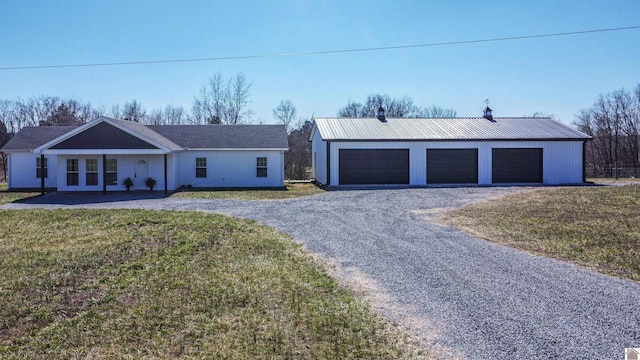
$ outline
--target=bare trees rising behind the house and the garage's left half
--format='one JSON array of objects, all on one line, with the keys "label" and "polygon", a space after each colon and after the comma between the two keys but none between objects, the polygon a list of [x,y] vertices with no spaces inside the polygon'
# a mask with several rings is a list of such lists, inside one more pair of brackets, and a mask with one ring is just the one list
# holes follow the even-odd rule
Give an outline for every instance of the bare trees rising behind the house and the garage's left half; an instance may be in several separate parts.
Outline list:
[{"label": "bare trees rising behind the house and the garage's left half", "polygon": [[[79,126],[100,116],[109,116],[147,125],[250,124],[251,83],[244,74],[226,78],[215,74],[194,96],[191,109],[166,105],[146,109],[132,99],[110,108],[93,106],[75,98],[40,95],[29,99],[0,99],[0,147],[24,127]],[[338,109],[339,117],[375,117],[379,107],[388,117],[455,117],[453,109],[438,106],[420,107],[409,97],[393,98],[386,94],[368,95],[363,103],[349,100]],[[314,117],[303,117],[291,100],[282,100],[272,110],[272,117],[285,125],[289,151],[285,152],[285,178],[308,179],[311,176],[311,143],[308,141]],[[6,182],[7,156],[0,152],[0,182]]]}]

